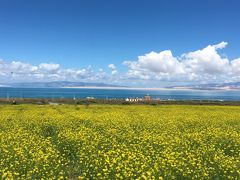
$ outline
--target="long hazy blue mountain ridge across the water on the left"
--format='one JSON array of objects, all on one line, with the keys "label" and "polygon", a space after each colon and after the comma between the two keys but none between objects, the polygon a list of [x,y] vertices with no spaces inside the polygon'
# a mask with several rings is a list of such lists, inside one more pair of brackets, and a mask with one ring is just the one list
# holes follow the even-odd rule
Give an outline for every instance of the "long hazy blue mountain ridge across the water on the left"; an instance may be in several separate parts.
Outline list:
[{"label": "long hazy blue mountain ridge across the water on the left", "polygon": [[54,81],[54,82],[19,82],[0,84],[0,87],[34,87],[34,88],[60,88],[60,87],[123,87],[105,83],[86,83],[86,82],[70,82],[70,81]]}]

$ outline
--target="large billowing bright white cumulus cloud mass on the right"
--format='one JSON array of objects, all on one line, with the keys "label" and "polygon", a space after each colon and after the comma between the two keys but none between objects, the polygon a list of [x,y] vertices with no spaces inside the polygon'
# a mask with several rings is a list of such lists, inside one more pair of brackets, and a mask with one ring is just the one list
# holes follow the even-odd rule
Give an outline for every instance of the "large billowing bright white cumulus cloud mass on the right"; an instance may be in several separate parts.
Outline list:
[{"label": "large billowing bright white cumulus cloud mass on the right", "polygon": [[201,50],[174,57],[170,50],[150,52],[136,61],[124,61],[129,78],[163,81],[215,82],[236,79],[240,73],[240,59],[229,60],[218,50],[227,42],[209,45]]}]

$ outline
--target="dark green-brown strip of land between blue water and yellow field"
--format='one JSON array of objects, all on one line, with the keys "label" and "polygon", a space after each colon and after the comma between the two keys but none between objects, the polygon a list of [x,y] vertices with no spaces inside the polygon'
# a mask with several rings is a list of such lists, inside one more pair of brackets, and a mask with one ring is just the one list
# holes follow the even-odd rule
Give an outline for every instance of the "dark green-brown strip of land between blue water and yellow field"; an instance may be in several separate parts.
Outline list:
[{"label": "dark green-brown strip of land between blue water and yellow field", "polygon": [[219,105],[219,106],[240,106],[240,100],[238,101],[220,101],[220,100],[150,100],[150,101],[136,101],[126,102],[124,99],[72,99],[72,98],[0,98],[0,106],[3,105]]}]

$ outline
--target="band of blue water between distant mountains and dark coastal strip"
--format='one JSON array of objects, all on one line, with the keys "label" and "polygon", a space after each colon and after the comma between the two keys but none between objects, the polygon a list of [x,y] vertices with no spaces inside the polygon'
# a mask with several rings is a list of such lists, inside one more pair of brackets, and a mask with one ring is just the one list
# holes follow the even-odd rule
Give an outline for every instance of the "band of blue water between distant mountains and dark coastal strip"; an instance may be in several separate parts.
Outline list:
[{"label": "band of blue water between distant mountains and dark coastal strip", "polygon": [[240,101],[240,91],[220,90],[129,90],[129,89],[77,89],[77,88],[9,88],[0,87],[1,98],[153,98],[175,100],[231,100]]}]

